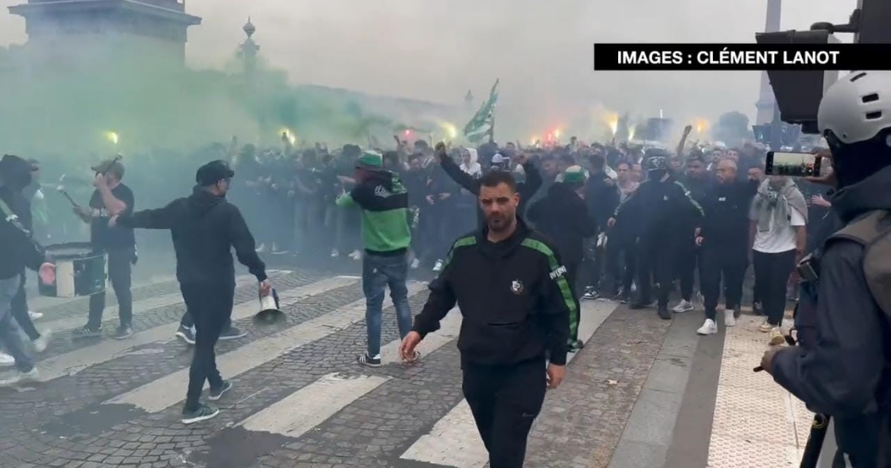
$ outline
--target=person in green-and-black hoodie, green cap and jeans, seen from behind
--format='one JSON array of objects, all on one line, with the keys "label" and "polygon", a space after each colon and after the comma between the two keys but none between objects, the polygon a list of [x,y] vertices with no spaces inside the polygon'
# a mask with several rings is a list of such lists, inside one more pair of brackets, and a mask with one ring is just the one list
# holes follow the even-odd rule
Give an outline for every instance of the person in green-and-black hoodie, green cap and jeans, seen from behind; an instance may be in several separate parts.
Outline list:
[{"label": "person in green-and-black hoodie, green cap and jeans, seen from behind", "polygon": [[[364,151],[356,161],[356,186],[337,198],[338,206],[362,209],[362,290],[365,295],[365,325],[368,350],[359,364],[380,367],[380,326],[385,288],[396,307],[399,336],[412,329],[408,305],[408,247],[412,242],[409,226],[408,190],[396,173],[383,168],[383,156]],[[415,355],[415,359],[418,356]]]}]

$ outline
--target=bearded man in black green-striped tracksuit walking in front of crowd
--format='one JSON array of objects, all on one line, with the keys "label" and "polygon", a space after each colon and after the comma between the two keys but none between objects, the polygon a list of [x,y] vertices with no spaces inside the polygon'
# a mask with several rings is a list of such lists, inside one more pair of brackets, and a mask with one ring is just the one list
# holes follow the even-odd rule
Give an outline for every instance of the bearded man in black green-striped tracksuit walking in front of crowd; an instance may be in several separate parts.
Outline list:
[{"label": "bearded man in black green-striped tracksuit walking in front of crowd", "polygon": [[464,397],[489,464],[521,468],[544,391],[565,375],[569,321],[577,310],[553,246],[516,215],[511,173],[487,173],[481,181],[486,225],[455,241],[400,353],[413,359],[421,339],[458,303]]}]

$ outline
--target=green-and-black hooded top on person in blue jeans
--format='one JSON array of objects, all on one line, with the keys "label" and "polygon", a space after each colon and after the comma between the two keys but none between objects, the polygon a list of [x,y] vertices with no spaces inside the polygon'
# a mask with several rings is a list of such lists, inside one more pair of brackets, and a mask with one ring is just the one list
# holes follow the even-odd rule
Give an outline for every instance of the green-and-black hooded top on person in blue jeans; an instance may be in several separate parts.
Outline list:
[{"label": "green-and-black hooded top on person in blue jeans", "polygon": [[408,191],[396,173],[380,171],[337,199],[362,208],[362,242],[370,254],[401,254],[412,242]]}]

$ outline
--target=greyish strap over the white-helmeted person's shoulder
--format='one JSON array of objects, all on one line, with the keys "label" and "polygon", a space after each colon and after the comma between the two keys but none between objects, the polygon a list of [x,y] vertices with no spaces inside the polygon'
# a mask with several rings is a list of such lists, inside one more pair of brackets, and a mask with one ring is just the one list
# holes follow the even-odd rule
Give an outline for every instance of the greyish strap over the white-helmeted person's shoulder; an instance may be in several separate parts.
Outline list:
[{"label": "greyish strap over the white-helmeted person's shoulder", "polygon": [[891,316],[891,212],[863,214],[836,231],[830,239],[846,239],[863,246],[863,275],[873,300]]}]

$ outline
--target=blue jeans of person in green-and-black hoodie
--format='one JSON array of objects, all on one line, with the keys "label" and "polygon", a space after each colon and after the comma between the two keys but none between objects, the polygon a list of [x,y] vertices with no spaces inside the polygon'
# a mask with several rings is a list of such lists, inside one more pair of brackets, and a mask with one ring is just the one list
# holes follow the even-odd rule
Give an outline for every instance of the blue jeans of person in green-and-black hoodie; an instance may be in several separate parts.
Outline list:
[{"label": "blue jeans of person in green-and-black hoodie", "polygon": [[383,314],[385,288],[389,286],[390,297],[396,307],[396,323],[399,337],[405,338],[412,331],[412,311],[408,306],[408,257],[406,254],[394,256],[365,253],[362,261],[362,291],[365,295],[365,325],[368,327],[368,355],[372,358],[380,354],[380,322]]}]

